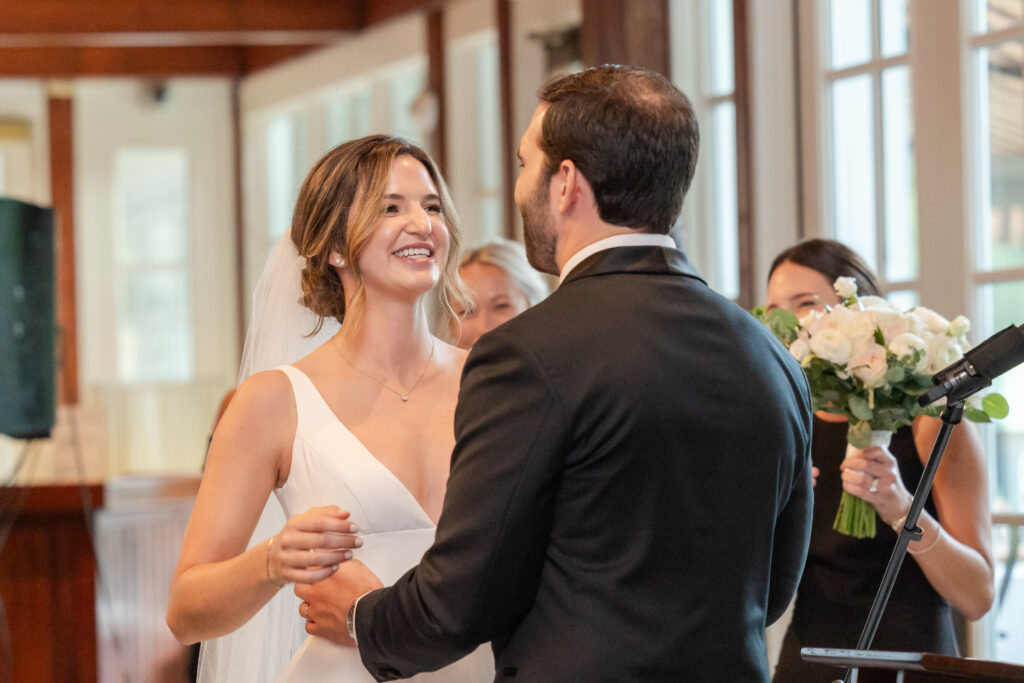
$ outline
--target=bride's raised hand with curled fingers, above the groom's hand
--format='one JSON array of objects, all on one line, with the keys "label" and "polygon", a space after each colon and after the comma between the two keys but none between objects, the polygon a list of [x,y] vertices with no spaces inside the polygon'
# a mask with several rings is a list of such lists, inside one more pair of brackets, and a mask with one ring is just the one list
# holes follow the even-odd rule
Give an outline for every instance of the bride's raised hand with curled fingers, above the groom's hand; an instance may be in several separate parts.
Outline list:
[{"label": "bride's raised hand with curled fingers, above the groom's hand", "polygon": [[288,520],[267,548],[267,578],[284,585],[311,584],[326,579],[338,564],[351,559],[362,539],[352,536],[358,526],[348,511],[330,505],[311,508]]}]

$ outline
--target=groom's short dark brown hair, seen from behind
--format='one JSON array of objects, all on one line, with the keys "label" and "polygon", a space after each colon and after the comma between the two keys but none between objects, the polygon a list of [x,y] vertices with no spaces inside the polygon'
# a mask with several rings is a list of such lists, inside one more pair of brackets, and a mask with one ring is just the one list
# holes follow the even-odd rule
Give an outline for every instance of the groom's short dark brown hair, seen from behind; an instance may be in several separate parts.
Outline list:
[{"label": "groom's short dark brown hair, seen from behind", "polygon": [[549,81],[541,150],[548,173],[575,164],[601,219],[668,233],[693,179],[700,134],[690,100],[660,74],[605,65]]}]

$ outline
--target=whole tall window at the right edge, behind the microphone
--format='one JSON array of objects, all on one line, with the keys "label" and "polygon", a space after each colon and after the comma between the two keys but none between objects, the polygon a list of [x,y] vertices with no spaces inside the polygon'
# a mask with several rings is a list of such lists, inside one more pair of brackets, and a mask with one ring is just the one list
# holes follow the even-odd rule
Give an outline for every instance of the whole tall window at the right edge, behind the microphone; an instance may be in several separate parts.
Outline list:
[{"label": "whole tall window at the right edge, behind the microphone", "polygon": [[[975,178],[972,202],[973,285],[979,339],[1011,324],[1024,311],[1024,3],[970,3],[971,148]],[[1010,401],[1008,419],[986,430],[992,512],[1024,512],[1024,382],[1011,371],[993,389]],[[997,517],[998,518],[998,517]],[[993,528],[997,557],[1019,552],[1020,526]],[[1018,563],[1007,577],[999,563],[991,635],[995,658],[1021,661],[1024,652],[1024,572]],[[1014,617],[1016,615],[1016,617]]]}]

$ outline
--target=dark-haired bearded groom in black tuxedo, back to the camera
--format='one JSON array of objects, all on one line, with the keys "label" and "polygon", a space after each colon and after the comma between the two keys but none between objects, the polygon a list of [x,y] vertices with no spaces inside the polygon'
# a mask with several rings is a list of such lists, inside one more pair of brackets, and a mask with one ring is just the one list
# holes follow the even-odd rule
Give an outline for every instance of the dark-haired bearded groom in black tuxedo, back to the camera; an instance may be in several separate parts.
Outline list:
[{"label": "dark-haired bearded groom in black tuxedo, back to the camera", "polygon": [[542,89],[515,200],[561,284],[470,353],[433,547],[390,588],[356,563],[298,587],[331,605],[309,633],[354,638],[378,680],[487,641],[500,681],[768,680],[810,532],[811,402],[667,237],[697,143],[657,74]]}]

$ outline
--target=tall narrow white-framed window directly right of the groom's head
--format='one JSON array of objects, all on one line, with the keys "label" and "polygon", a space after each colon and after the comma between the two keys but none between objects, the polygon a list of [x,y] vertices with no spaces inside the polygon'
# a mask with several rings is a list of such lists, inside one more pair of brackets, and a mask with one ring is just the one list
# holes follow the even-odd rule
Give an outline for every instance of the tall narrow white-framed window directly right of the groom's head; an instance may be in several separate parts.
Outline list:
[{"label": "tall narrow white-framed window directly right of the groom's head", "polygon": [[731,0],[670,5],[673,80],[700,121],[696,175],[683,204],[684,249],[708,283],[739,296],[736,108]]}]

